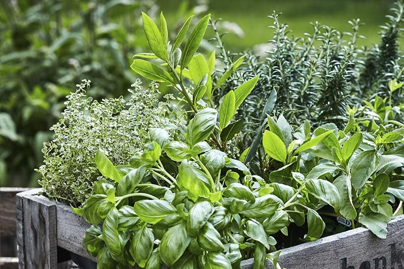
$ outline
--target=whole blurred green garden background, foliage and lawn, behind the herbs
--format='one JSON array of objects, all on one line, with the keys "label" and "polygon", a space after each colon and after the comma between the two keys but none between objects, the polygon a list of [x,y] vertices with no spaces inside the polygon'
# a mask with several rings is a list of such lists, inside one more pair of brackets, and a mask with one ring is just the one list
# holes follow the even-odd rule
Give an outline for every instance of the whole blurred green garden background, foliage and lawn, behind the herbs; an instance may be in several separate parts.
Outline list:
[{"label": "whole blurred green garden background, foliage and lawn, behind the herbs", "polygon": [[[140,12],[164,11],[170,33],[189,15],[222,18],[220,31],[232,52],[265,50],[273,10],[295,36],[311,32],[310,22],[349,30],[347,21],[365,26],[359,43],[379,42],[379,25],[392,0],[0,0],[0,186],[36,186],[42,143],[64,109],[65,96],[90,79],[90,96],[126,95],[135,80],[132,55],[147,51]],[[197,21],[197,20],[194,20]],[[207,40],[212,37],[208,31]],[[401,42],[402,44],[403,42]],[[213,50],[208,41],[205,50]]]}]

